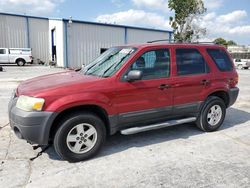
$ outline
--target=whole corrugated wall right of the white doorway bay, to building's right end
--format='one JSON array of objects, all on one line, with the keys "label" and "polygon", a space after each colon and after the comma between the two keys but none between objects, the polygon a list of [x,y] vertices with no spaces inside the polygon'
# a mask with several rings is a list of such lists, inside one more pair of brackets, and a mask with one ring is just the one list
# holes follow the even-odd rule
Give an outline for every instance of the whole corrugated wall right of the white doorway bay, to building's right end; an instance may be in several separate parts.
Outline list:
[{"label": "whole corrugated wall right of the white doorway bay, to building's right end", "polygon": [[67,26],[68,67],[90,63],[100,55],[101,48],[169,39],[168,32],[125,28],[73,21]]}]

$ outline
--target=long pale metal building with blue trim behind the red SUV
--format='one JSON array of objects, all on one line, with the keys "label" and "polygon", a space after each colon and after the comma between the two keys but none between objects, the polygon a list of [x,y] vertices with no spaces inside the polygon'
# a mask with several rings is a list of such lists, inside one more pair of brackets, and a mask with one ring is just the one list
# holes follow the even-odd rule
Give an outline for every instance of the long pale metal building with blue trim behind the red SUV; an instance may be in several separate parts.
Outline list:
[{"label": "long pale metal building with blue trim behind the red SUV", "polygon": [[0,13],[0,47],[32,48],[35,58],[59,67],[88,64],[105,49],[171,39],[172,32],[68,19]]}]

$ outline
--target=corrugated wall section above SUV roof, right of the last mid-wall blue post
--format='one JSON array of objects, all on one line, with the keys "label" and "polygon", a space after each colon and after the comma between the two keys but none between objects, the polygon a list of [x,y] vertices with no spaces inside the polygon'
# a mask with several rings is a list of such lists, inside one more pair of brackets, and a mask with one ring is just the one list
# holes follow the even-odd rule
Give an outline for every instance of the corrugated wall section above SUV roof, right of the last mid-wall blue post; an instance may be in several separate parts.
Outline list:
[{"label": "corrugated wall section above SUV roof, right of the last mid-wall blue post", "polygon": [[145,43],[152,40],[169,39],[169,33],[128,28],[127,37],[128,43]]}]

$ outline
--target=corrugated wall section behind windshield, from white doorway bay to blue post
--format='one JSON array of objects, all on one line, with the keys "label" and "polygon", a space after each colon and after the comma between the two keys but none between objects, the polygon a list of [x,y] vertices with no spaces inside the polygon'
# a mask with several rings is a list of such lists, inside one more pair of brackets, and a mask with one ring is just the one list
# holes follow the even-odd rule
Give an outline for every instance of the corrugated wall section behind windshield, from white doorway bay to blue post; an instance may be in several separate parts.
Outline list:
[{"label": "corrugated wall section behind windshield, from white doorway bay to blue post", "polygon": [[101,48],[124,44],[125,29],[73,22],[67,28],[68,66],[80,67],[100,55]]}]

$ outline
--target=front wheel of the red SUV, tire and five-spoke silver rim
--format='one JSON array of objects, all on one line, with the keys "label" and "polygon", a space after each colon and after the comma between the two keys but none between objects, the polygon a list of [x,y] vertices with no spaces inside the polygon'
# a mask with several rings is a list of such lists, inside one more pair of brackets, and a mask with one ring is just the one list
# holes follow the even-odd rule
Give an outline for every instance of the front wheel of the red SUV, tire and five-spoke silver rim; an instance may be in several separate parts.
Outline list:
[{"label": "front wheel of the red SUV, tire and five-spoke silver rim", "polygon": [[62,159],[78,162],[95,156],[105,139],[105,125],[99,117],[74,113],[61,123],[54,137],[54,148]]}]

